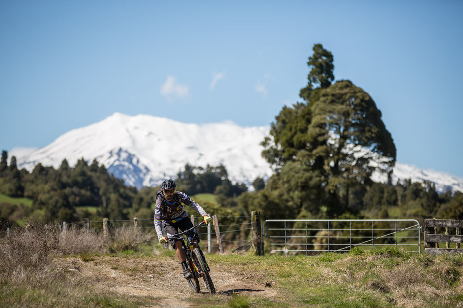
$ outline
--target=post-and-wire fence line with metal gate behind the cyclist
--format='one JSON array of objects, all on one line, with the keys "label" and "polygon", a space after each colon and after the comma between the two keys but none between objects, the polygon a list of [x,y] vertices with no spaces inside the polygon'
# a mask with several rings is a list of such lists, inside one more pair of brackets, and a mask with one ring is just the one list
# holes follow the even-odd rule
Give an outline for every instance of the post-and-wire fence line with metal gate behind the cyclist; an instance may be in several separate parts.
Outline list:
[{"label": "post-and-wire fence line with metal gate behind the cyclist", "polygon": [[[203,251],[246,251],[252,243],[256,244],[255,241],[251,243],[251,239],[256,234],[256,223],[254,221],[253,224],[252,216],[215,216],[215,218],[217,223],[213,227],[211,223],[207,227],[198,229]],[[203,217],[191,216],[190,219],[195,224],[202,221]],[[83,229],[111,237],[120,236],[119,230],[132,229],[146,235],[143,237],[145,241],[150,239],[152,243],[157,243],[152,218],[85,219],[73,223],[63,222],[59,227],[61,232]],[[260,234],[261,226],[258,230]],[[266,220],[262,224],[262,238],[258,242],[259,245],[263,245],[267,253],[284,255],[316,255],[324,252],[347,252],[354,246],[375,249],[391,245],[400,246],[408,251],[421,252],[420,224],[416,220],[405,219]]]}]

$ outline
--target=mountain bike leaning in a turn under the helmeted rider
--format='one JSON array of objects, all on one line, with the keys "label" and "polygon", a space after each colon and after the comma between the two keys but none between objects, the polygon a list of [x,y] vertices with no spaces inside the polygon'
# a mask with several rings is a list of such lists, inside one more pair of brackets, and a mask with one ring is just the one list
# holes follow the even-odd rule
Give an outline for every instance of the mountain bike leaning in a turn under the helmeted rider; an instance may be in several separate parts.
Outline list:
[{"label": "mountain bike leaning in a turn under the helmeted rider", "polygon": [[[209,293],[212,294],[215,293],[215,287],[209,275],[210,269],[207,265],[206,258],[204,257],[201,248],[199,248],[198,242],[193,242],[193,239],[188,235],[188,232],[193,231],[194,229],[199,228],[204,224],[205,222],[202,221],[188,230],[166,238],[166,240],[180,240],[182,242],[182,248],[185,251],[185,255],[187,257],[188,268],[193,274],[193,277],[188,279],[188,283],[190,284],[192,291],[199,293],[199,278],[202,277],[204,279],[204,283],[206,284],[207,290],[209,290]],[[185,244],[185,242],[187,243]]]}]

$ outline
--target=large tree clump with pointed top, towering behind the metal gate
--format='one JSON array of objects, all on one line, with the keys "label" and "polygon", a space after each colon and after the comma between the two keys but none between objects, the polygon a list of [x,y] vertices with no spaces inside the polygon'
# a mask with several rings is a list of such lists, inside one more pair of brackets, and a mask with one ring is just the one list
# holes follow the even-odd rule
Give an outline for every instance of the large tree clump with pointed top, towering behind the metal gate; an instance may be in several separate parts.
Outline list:
[{"label": "large tree clump with pointed top, towering behind the metal gate", "polygon": [[370,183],[375,171],[391,172],[396,148],[368,93],[348,80],[331,84],[331,52],[321,44],[313,51],[308,85],[300,93],[305,102],[283,107],[262,143],[262,154],[276,176],[290,169],[306,179],[286,191],[315,189],[303,196],[311,200],[309,208],[327,207],[333,215],[349,209],[351,189]]}]

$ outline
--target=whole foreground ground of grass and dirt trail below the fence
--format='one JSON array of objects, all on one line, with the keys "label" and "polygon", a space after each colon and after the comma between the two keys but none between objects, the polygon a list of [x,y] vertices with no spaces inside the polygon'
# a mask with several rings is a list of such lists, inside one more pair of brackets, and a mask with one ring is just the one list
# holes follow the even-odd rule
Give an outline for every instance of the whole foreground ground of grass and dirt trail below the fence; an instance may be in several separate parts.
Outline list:
[{"label": "whole foreground ground of grass and dirt trail below the fence", "polygon": [[[178,270],[174,252],[152,245],[151,235],[130,230],[104,239],[29,226],[2,236],[0,306],[153,307],[172,301],[182,307],[463,307],[463,254],[431,256],[393,247],[315,257],[207,254],[216,288],[229,283],[233,290],[194,294],[181,281],[179,299],[159,282],[169,273],[165,269]],[[57,260],[74,260],[68,262],[76,270],[57,266]],[[107,266],[135,282],[114,287],[118,276],[95,280],[75,260],[95,271]],[[148,274],[154,277],[146,280],[149,295],[116,291],[140,284]],[[113,287],[95,284],[104,279]],[[168,281],[175,285],[175,279]]]}]

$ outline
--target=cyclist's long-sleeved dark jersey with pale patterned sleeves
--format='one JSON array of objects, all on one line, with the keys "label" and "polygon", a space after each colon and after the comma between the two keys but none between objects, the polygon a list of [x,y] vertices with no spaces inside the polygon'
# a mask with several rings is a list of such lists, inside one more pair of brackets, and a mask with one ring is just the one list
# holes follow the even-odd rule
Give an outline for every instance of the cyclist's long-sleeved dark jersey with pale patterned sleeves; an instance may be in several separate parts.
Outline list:
[{"label": "cyclist's long-sleeved dark jersey with pale patterned sleeves", "polygon": [[154,227],[158,238],[163,236],[163,224],[165,221],[176,222],[185,217],[188,217],[183,204],[198,211],[201,216],[207,215],[206,211],[195,201],[193,201],[187,194],[176,191],[173,202],[167,201],[162,196],[156,198],[156,206],[154,208]]}]

